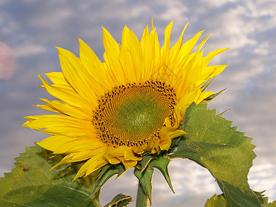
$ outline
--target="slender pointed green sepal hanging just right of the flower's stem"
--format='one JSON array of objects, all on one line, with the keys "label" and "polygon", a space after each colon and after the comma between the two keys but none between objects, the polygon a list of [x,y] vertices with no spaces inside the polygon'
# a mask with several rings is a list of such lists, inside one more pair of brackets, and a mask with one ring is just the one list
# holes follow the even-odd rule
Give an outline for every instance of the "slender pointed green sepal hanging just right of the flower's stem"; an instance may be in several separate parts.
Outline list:
[{"label": "slender pointed green sepal hanging just right of the flower's stem", "polygon": [[175,193],[175,190],[173,190],[172,183],[170,181],[170,175],[168,175],[168,164],[169,163],[170,163],[170,158],[168,158],[168,156],[166,156],[166,157],[159,156],[156,159],[152,159],[152,161],[150,161],[150,163],[149,163],[149,166],[150,166],[150,168],[157,168],[158,170],[160,170],[160,172],[166,179],[168,186],[172,190],[172,193]]}]

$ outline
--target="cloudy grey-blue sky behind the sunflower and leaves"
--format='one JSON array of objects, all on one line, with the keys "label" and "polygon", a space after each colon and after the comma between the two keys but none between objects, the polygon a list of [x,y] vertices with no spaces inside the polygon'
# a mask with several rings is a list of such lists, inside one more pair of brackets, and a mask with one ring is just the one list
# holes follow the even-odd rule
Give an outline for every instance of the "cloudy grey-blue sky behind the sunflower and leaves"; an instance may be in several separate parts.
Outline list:
[{"label": "cloudy grey-blue sky behind the sunflower and leaves", "polygon": [[[14,157],[46,135],[23,128],[23,117],[47,112],[32,105],[39,98],[53,99],[42,88],[38,74],[61,71],[56,46],[79,53],[77,37],[86,41],[103,61],[102,29],[119,42],[125,25],[137,37],[154,19],[159,41],[174,20],[171,42],[175,43],[190,21],[184,41],[205,30],[211,34],[206,53],[229,47],[212,64],[229,65],[217,76],[210,90],[226,88],[208,108],[224,115],[233,126],[253,138],[257,158],[248,175],[250,188],[266,190],[276,199],[276,1],[68,1],[0,0],[0,176],[13,168]],[[45,76],[44,76],[45,77]],[[206,199],[221,193],[208,170],[184,159],[169,166],[175,194],[161,173],[153,176],[153,206],[204,206]],[[136,197],[137,180],[128,170],[119,180],[103,186],[102,204],[117,193]],[[135,201],[130,204],[135,206]]]}]

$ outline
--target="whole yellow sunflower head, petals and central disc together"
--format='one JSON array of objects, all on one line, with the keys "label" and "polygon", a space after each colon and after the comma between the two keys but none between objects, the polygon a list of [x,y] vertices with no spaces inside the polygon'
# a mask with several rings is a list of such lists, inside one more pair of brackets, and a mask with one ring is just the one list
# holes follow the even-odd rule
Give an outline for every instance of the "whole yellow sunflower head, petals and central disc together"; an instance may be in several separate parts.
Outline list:
[{"label": "whole yellow sunflower head, petals and central disc together", "polygon": [[226,66],[208,63],[227,48],[203,57],[209,35],[192,53],[204,31],[183,43],[184,30],[170,48],[171,29],[172,22],[160,48],[153,23],[141,41],[125,26],[121,44],[103,28],[104,62],[81,39],[79,57],[57,48],[62,72],[46,74],[52,84],[39,76],[41,87],[57,99],[37,105],[57,115],[29,116],[23,124],[51,135],[39,146],[65,155],[53,168],[83,161],[75,179],[106,164],[128,170],[145,152],[168,150],[172,139],[186,134],[179,130],[186,108],[213,95],[202,86]]}]

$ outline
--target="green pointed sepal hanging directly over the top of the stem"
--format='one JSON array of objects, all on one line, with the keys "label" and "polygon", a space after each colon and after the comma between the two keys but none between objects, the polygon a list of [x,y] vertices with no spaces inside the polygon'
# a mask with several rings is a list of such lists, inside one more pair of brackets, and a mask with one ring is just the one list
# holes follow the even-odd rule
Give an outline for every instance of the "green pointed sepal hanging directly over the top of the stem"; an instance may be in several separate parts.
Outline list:
[{"label": "green pointed sepal hanging directly over the top of the stem", "polygon": [[150,201],[150,206],[152,205],[152,174],[154,169],[150,168],[149,165],[146,166],[146,169],[141,172],[138,168],[135,167],[134,175],[139,179],[139,183],[144,191],[144,194],[148,197]]}]

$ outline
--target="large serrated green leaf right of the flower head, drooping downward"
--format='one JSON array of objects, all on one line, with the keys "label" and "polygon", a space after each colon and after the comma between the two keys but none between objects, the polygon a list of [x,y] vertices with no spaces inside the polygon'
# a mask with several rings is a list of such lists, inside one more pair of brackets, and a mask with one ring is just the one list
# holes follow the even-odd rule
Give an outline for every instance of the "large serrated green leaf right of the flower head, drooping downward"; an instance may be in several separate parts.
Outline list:
[{"label": "large serrated green leaf right of the flower head, drooping downward", "polygon": [[171,158],[196,161],[215,177],[228,206],[261,206],[247,182],[249,168],[256,157],[249,137],[231,127],[232,122],[216,116],[207,105],[192,103],[186,110],[181,129],[188,133],[179,138]]}]

